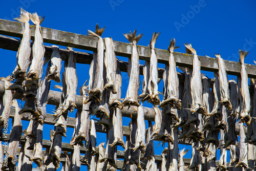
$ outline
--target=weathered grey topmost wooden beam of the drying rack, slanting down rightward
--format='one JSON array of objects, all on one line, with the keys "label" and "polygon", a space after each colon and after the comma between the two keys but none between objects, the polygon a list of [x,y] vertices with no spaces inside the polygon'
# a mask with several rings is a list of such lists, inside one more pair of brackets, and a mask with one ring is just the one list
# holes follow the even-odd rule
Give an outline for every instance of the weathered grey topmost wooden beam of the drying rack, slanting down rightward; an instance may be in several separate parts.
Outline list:
[{"label": "weathered grey topmost wooden beam of the drying rack, slanting down rightward", "polygon": [[[25,25],[22,23],[0,19],[0,34],[14,36],[14,37],[22,37],[24,26]],[[34,38],[34,30],[35,30],[35,26],[31,25],[32,39]],[[96,47],[97,47],[96,37],[75,34],[71,32],[55,30],[55,29],[49,29],[45,27],[41,27],[41,30],[42,30],[44,42],[61,45],[61,46],[69,46],[69,47],[78,48],[78,49],[96,51]],[[120,41],[113,41],[113,44],[114,44],[114,50],[116,55],[131,57],[131,51],[132,51],[131,44],[127,44],[125,42],[120,42]],[[150,52],[151,52],[150,47],[138,45],[138,50],[139,50],[140,59],[148,60],[148,61],[150,60]],[[157,48],[155,48],[155,51],[158,54],[158,62],[167,64],[169,52],[167,50],[162,50]],[[193,64],[192,64],[193,55],[174,52],[174,56],[175,56],[177,66],[187,67],[187,68],[193,67]],[[199,56],[199,59],[201,61],[201,70],[211,71],[211,72],[218,71],[219,69],[218,60],[216,58]],[[225,60],[225,65],[226,65],[227,74],[240,75],[241,65],[239,62]],[[247,69],[249,78],[256,78],[256,73],[254,72],[256,70],[255,65],[246,64],[246,69]]]}]

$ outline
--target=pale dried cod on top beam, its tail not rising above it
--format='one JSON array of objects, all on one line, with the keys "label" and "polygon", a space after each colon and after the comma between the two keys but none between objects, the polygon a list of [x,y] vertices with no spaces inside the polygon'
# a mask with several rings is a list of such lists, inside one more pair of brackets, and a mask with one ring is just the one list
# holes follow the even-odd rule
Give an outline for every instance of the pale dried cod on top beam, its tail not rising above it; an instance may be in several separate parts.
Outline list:
[{"label": "pale dried cod on top beam, its tail not rising above it", "polygon": [[105,41],[105,56],[104,64],[106,67],[106,80],[104,88],[108,89],[113,94],[116,94],[115,80],[116,80],[116,70],[117,70],[117,61],[116,55],[114,52],[113,40],[111,37],[104,38]]}]

